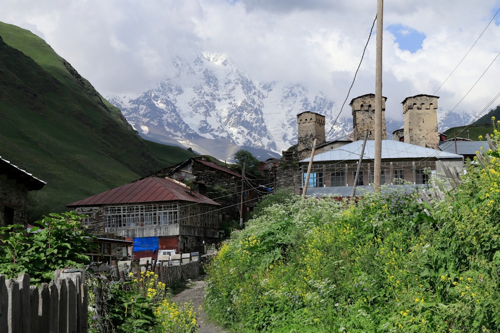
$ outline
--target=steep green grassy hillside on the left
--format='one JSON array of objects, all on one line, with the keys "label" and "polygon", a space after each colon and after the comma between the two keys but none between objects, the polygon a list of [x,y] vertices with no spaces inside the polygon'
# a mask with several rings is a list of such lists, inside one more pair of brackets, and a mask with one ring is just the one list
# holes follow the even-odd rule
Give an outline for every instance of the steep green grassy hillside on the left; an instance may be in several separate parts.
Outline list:
[{"label": "steep green grassy hillside on the left", "polygon": [[119,109],[28,30],[0,22],[0,37],[0,156],[47,182],[33,192],[32,214],[64,211],[194,155],[140,138]]}]

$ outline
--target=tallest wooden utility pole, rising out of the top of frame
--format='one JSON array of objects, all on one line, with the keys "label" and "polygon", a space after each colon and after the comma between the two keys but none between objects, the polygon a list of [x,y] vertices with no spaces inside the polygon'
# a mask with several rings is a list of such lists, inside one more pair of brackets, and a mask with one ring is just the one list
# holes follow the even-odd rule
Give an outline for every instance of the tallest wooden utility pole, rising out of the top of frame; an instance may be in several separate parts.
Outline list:
[{"label": "tallest wooden utility pole, rising out of the top of frame", "polygon": [[376,4],[376,60],[375,60],[375,154],[373,191],[380,191],[382,159],[382,12],[383,0]]}]

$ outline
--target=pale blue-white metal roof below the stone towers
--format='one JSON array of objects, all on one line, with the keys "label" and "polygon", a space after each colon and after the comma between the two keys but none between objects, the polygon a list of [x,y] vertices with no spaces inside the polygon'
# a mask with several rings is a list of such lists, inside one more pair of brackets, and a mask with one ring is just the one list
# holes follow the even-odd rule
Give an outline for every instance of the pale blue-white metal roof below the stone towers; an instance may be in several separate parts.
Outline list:
[{"label": "pale blue-white metal roof below the stone towers", "polygon": [[[363,140],[354,141],[341,147],[331,149],[327,152],[314,156],[314,162],[326,161],[357,161],[361,154]],[[400,142],[395,140],[382,140],[381,159],[458,159],[461,155],[448,153],[431,148],[425,148],[414,144]],[[364,148],[363,159],[375,158],[375,141],[367,140]],[[310,158],[301,160],[300,162],[309,162]]]}]

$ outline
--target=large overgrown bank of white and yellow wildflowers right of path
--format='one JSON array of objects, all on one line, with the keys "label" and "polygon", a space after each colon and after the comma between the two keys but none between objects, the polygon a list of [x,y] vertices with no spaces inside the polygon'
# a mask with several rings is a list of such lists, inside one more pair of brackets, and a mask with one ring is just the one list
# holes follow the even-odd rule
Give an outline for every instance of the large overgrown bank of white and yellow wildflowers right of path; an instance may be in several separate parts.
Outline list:
[{"label": "large overgrown bank of white and yellow wildflowers right of path", "polygon": [[209,315],[243,333],[497,332],[498,156],[484,151],[443,201],[263,205],[208,268]]}]

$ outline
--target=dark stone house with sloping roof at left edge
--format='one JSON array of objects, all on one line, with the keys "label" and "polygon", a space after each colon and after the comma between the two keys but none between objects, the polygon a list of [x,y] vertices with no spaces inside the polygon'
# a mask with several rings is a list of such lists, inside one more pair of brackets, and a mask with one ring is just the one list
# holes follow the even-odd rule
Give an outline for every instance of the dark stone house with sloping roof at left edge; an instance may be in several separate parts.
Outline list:
[{"label": "dark stone house with sloping roof at left edge", "polygon": [[0,227],[27,226],[28,192],[41,190],[45,184],[0,157]]}]

